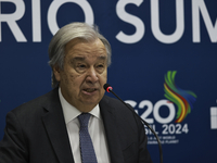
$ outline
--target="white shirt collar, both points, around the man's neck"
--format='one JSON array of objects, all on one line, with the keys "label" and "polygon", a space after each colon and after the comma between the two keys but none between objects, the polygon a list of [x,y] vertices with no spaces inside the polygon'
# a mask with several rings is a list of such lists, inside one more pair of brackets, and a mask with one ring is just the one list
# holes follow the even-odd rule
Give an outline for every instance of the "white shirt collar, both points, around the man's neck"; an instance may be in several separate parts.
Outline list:
[{"label": "white shirt collar, both points, around the man's neck", "polygon": [[[63,115],[65,118],[65,124],[67,124],[68,122],[71,122],[72,120],[76,118],[78,115],[81,114],[81,112],[78,109],[76,109],[74,105],[69,104],[65,100],[65,98],[63,97],[63,95],[61,92],[61,88],[59,88],[59,97],[60,97],[61,105],[63,108]],[[98,117],[99,120],[101,120],[99,104],[97,104],[89,113],[91,115]]]}]

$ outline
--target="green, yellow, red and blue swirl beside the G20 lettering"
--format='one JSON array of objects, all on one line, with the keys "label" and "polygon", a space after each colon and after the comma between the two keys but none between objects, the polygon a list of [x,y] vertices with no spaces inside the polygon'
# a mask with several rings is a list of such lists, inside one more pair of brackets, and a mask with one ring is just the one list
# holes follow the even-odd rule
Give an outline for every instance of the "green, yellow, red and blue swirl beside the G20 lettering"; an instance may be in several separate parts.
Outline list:
[{"label": "green, yellow, red and blue swirl beside the G20 lettering", "polygon": [[176,71],[169,71],[167,72],[167,75],[165,75],[164,96],[178,106],[176,123],[181,123],[193,109],[196,95],[192,91],[183,90],[176,86]]}]

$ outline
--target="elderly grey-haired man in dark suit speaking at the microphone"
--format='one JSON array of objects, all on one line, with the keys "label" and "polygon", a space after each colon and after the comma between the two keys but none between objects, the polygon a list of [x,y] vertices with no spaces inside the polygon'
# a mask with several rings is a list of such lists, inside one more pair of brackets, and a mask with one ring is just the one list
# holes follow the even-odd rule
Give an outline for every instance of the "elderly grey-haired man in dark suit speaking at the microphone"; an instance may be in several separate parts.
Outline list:
[{"label": "elderly grey-haired man in dark suit speaking at the microphone", "polygon": [[151,163],[140,120],[104,96],[111,47],[85,23],[49,46],[53,90],[7,115],[0,163]]}]

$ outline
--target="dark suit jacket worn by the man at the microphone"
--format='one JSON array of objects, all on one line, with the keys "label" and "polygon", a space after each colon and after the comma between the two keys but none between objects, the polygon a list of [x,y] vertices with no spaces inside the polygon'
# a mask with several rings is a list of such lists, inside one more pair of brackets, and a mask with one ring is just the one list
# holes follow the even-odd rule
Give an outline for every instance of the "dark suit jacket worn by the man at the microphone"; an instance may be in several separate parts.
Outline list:
[{"label": "dark suit jacket worn by the man at the microphone", "polygon": [[[140,120],[118,100],[99,103],[112,163],[151,163]],[[74,163],[58,89],[9,112],[0,163]]]}]

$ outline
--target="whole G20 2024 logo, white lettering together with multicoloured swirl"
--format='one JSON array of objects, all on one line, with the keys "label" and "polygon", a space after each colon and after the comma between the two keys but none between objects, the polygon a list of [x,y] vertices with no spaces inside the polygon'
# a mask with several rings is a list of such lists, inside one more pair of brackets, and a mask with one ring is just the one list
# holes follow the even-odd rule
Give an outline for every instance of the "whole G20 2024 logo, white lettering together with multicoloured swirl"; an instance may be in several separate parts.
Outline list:
[{"label": "whole G20 2024 logo, white lettering together with multicoloured swirl", "polygon": [[[182,134],[188,133],[188,124],[181,125],[180,123],[187,117],[187,115],[191,112],[193,109],[193,103],[195,102],[196,95],[190,90],[183,90],[179,88],[175,84],[175,76],[176,71],[168,71],[165,75],[165,83],[164,83],[164,91],[165,91],[165,98],[157,101],[155,104],[153,104],[149,100],[143,100],[139,104],[137,104],[136,101],[132,100],[126,100],[125,102],[129,103],[132,108],[135,108],[136,112],[139,114],[140,110],[145,110],[141,113],[141,117],[148,122],[149,124],[153,124],[152,127],[155,129],[154,120],[163,124],[162,125],[162,134]],[[175,106],[176,105],[176,106]],[[136,109],[137,106],[137,109]],[[163,113],[166,112],[165,108],[168,110],[168,114],[163,116],[159,112],[161,109],[163,110]],[[177,112],[176,112],[177,108]],[[153,117],[150,115],[153,114]],[[176,116],[176,123],[173,124]],[[171,123],[171,124],[169,124]]]}]

